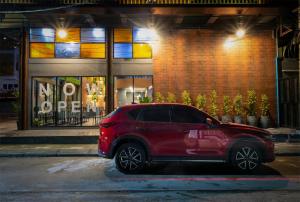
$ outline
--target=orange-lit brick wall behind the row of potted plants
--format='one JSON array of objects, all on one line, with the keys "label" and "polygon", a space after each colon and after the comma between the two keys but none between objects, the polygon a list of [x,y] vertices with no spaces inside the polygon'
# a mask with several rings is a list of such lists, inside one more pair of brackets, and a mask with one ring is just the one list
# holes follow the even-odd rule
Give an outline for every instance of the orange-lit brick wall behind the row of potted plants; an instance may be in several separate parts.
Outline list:
[{"label": "orange-lit brick wall behind the row of potted plants", "polygon": [[272,31],[252,33],[224,47],[228,37],[222,31],[203,29],[168,30],[160,33],[159,47],[154,48],[154,90],[176,94],[181,101],[183,90],[209,95],[216,89],[220,115],[223,96],[241,93],[246,101],[248,89],[266,93],[275,118],[275,40]]}]

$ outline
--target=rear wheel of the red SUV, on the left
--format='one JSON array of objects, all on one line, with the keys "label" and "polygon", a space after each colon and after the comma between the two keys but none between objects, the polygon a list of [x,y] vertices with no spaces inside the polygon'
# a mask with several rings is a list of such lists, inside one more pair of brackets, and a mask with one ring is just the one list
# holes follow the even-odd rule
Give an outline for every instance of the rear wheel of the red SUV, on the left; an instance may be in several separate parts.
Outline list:
[{"label": "rear wheel of the red SUV, on the left", "polygon": [[145,167],[145,161],[145,149],[136,143],[123,144],[115,157],[117,169],[125,174],[140,173]]}]

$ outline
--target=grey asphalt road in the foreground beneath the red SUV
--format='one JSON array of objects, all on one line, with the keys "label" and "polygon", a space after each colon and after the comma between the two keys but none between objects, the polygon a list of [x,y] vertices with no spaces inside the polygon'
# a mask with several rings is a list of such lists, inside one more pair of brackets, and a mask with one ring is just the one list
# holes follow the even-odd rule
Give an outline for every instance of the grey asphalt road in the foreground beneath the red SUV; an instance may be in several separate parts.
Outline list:
[{"label": "grey asphalt road in the foreground beneath the red SUV", "polygon": [[124,175],[96,157],[0,158],[0,201],[299,201],[300,157],[252,174],[224,164],[159,164]]}]

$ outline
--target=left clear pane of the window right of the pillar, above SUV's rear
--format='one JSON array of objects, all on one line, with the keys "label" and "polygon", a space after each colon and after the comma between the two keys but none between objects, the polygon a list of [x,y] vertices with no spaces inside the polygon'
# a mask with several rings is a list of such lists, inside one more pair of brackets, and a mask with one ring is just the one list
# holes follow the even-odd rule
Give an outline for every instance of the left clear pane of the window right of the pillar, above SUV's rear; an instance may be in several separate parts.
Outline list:
[{"label": "left clear pane of the window right of the pillar, above SUV's rear", "polygon": [[133,103],[133,78],[118,76],[114,81],[114,108]]}]

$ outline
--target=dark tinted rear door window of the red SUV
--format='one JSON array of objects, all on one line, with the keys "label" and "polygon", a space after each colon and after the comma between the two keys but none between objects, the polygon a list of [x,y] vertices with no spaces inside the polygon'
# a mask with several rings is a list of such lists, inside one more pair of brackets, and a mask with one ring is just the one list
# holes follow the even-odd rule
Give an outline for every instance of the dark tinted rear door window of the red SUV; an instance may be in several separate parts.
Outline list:
[{"label": "dark tinted rear door window of the red SUV", "polygon": [[138,119],[146,122],[170,122],[170,109],[164,106],[147,107],[142,110]]}]

